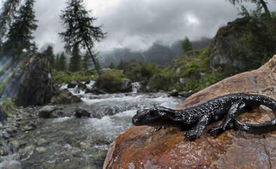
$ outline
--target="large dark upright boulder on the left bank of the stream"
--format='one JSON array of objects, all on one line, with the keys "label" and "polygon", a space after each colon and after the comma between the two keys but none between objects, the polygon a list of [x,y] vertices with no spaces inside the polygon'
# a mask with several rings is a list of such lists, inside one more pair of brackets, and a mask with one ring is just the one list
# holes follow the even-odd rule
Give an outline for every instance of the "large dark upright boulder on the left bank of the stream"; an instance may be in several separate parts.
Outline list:
[{"label": "large dark upright boulder on the left bank of the stream", "polygon": [[25,58],[8,81],[4,95],[19,106],[44,105],[55,91],[50,63],[43,54]]}]

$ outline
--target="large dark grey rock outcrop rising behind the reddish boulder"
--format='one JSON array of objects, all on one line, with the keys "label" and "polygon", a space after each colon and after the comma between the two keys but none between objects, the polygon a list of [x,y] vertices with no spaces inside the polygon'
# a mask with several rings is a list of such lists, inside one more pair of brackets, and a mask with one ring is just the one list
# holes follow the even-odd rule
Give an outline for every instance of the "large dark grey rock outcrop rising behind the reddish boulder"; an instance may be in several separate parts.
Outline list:
[{"label": "large dark grey rock outcrop rising behind the reddish boulder", "polygon": [[[214,36],[209,55],[210,66],[213,69],[221,69],[228,74],[237,74],[244,71],[258,68],[261,61],[256,61],[258,56],[247,53],[247,45],[242,43],[244,38],[244,27],[250,23],[248,17],[237,18],[233,22],[228,22],[225,27],[221,27]],[[246,30],[248,34],[254,34]],[[265,29],[260,29],[265,31]],[[263,32],[260,32],[263,34]]]}]

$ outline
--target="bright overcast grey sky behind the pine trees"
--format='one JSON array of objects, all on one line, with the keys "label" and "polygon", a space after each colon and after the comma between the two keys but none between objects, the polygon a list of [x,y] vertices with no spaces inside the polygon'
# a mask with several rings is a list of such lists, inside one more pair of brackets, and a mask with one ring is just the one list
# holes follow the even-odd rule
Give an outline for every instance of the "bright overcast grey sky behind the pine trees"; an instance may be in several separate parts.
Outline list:
[{"label": "bright overcast grey sky behind the pine trees", "polygon": [[[35,41],[42,47],[53,44],[55,52],[63,50],[58,36],[62,31],[60,14],[67,0],[36,0],[34,10],[39,28]],[[274,0],[269,0],[274,1]],[[130,47],[144,50],[154,41],[172,43],[188,36],[191,40],[202,36],[212,38],[219,27],[237,17],[237,7],[225,0],[86,0],[88,10],[103,24],[107,38],[96,50]],[[273,6],[273,7],[271,7]],[[275,3],[269,6],[275,10]]]}]

